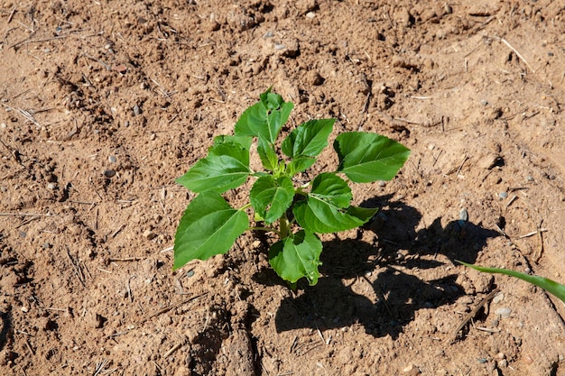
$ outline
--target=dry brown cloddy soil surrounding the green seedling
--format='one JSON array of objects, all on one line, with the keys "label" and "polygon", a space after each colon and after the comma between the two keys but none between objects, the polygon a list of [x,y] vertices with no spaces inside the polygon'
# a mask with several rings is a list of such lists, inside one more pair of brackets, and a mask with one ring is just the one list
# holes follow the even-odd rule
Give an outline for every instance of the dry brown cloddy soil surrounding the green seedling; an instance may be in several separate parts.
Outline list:
[{"label": "dry brown cloddy soil surrounding the green seedling", "polygon": [[[0,374],[565,375],[562,302],[456,262],[565,282],[562,0],[4,1],[0,20]],[[288,289],[254,234],[171,271],[194,197],[174,179],[270,86],[292,124],[335,117],[332,139],[410,160],[352,185],[382,210],[322,238],[317,286]]]}]

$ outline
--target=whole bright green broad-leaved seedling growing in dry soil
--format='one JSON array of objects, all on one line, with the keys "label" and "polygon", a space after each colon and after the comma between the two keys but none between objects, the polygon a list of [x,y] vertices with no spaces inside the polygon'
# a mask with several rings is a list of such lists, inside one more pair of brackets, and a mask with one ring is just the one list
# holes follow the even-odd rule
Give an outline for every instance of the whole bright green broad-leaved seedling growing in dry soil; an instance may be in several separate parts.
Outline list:
[{"label": "whole bright green broad-leaved seedling growing in dry soil", "polygon": [[[376,208],[351,206],[349,181],[393,179],[410,151],[376,133],[341,133],[333,143],[338,153],[337,169],[320,173],[304,184],[306,175],[302,172],[328,146],[336,120],[310,120],[280,142],[282,126],[293,106],[269,88],[241,115],[233,135],[216,137],[208,156],[176,180],[198,195],[177,228],[173,269],[223,254],[245,231],[259,230],[278,235],[278,242],[269,250],[269,262],[283,280],[295,286],[305,277],[315,285],[322,251],[318,234],[356,228],[375,216]],[[250,168],[254,141],[263,171]],[[230,206],[222,193],[242,186],[248,179],[253,179],[248,204]]]}]

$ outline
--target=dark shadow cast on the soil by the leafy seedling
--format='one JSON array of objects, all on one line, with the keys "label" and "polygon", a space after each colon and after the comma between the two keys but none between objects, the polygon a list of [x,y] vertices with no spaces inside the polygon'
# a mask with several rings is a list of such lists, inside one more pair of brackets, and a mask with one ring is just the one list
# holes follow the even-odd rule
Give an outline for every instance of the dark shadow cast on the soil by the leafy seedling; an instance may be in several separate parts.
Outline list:
[{"label": "dark shadow cast on the soil by the leafy seedling", "polygon": [[[445,265],[435,260],[433,255],[437,254],[447,256],[451,262],[473,263],[486,239],[499,233],[468,221],[452,221],[442,227],[440,217],[416,231],[420,212],[390,199],[391,196],[375,197],[361,205],[384,209],[359,229],[357,239],[336,238],[324,243],[320,258],[320,273],[324,277],[313,287],[299,281],[303,292],[282,300],[275,317],[278,332],[306,327],[324,330],[358,323],[369,335],[391,335],[396,339],[417,310],[450,304],[464,294],[456,283],[457,273],[438,280],[421,280],[402,270],[423,271]],[[367,243],[367,238],[375,240]],[[377,276],[372,282],[367,274],[375,272]],[[351,281],[344,284],[344,280]],[[366,295],[373,299],[351,288],[358,280],[363,280],[361,283],[369,288]]]}]

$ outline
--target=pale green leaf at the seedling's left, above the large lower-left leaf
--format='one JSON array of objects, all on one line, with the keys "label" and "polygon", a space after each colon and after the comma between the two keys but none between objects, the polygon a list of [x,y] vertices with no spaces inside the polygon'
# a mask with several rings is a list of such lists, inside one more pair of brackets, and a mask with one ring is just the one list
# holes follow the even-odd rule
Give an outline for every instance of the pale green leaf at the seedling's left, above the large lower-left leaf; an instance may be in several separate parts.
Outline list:
[{"label": "pale green leaf at the seedling's left, above the large lower-left leaf", "polygon": [[209,149],[208,157],[176,181],[193,192],[222,193],[245,183],[250,173],[248,148],[236,142],[218,142]]}]

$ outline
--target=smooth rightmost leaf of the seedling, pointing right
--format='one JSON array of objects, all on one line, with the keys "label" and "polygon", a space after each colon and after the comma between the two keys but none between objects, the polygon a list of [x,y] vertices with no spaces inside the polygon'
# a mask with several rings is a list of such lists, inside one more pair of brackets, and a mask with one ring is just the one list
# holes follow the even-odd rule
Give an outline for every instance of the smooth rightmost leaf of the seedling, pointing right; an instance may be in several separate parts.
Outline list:
[{"label": "smooth rightmost leaf of the seedling, pointing right", "polygon": [[390,180],[403,167],[410,150],[376,133],[341,133],[334,142],[338,171],[356,183]]}]

